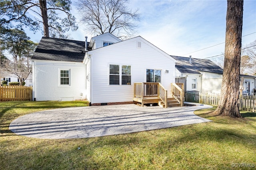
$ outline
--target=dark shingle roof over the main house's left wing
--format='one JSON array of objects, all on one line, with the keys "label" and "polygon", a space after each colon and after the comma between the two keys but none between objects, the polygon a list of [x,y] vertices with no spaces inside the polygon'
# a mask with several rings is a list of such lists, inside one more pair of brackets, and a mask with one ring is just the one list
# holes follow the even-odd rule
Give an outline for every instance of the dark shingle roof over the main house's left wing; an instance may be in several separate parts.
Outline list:
[{"label": "dark shingle roof over the main house's left wing", "polygon": [[83,62],[85,42],[42,37],[32,59]]}]

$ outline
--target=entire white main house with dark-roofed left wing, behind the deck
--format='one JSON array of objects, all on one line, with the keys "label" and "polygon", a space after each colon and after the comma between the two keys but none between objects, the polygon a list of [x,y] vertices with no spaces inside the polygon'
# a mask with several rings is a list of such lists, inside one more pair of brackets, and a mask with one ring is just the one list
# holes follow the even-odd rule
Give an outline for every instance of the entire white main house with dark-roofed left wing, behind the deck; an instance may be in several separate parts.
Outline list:
[{"label": "entire white main house with dark-roofed left wing, behind the deck", "polygon": [[106,33],[90,42],[43,37],[32,57],[34,100],[133,103],[136,82],[160,82],[170,95],[175,61],[140,36],[122,41]]}]

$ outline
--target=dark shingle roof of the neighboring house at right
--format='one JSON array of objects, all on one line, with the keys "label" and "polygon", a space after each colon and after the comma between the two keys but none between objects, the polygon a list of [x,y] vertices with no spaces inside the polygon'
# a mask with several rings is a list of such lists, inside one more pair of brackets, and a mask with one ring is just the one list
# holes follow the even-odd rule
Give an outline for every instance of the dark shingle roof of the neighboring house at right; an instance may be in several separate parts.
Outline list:
[{"label": "dark shingle roof of the neighboring house at right", "polygon": [[219,74],[223,73],[223,69],[221,67],[208,59],[191,58],[190,63],[189,57],[178,57],[173,55],[171,55],[171,57],[177,60],[175,68],[178,69],[180,73],[200,74],[199,71]]}]

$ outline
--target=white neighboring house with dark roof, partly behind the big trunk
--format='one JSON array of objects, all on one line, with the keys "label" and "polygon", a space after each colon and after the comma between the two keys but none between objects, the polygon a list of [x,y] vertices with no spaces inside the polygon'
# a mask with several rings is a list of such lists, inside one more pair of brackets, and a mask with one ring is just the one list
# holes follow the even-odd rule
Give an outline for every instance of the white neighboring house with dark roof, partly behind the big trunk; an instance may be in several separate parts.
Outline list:
[{"label": "white neighboring house with dark roof, partly behind the big trunk", "polygon": [[[172,56],[172,55],[171,55]],[[172,56],[177,60],[175,82],[184,83],[185,91],[220,93],[223,69],[208,59]],[[240,75],[244,94],[252,94],[255,89],[255,76]]]}]

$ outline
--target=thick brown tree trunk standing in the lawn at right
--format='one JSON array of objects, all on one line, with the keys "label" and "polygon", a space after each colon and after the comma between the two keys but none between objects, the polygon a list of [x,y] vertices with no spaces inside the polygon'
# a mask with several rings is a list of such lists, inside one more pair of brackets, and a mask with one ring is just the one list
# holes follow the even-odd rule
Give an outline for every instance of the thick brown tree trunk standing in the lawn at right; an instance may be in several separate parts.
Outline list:
[{"label": "thick brown tree trunk standing in the lawn at right", "polygon": [[242,117],[239,112],[239,75],[242,45],[243,0],[228,0],[226,43],[218,115]]}]

